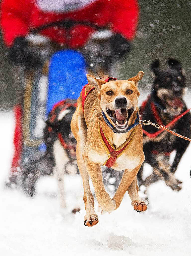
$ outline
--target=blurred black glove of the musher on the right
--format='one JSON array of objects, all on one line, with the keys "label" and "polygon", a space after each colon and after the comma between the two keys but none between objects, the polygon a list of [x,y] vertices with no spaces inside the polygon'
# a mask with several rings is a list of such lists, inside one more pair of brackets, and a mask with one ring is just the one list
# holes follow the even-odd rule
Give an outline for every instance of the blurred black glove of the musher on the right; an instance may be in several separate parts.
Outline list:
[{"label": "blurred black glove of the musher on the right", "polygon": [[114,34],[110,38],[112,55],[120,58],[127,54],[131,49],[131,43],[120,34]]}]

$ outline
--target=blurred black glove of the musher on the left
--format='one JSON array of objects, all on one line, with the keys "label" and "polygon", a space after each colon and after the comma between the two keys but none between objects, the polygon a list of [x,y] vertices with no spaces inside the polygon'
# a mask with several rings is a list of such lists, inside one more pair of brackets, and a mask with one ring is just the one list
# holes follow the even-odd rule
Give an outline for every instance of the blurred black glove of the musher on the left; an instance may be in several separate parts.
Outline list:
[{"label": "blurred black glove of the musher on the left", "polygon": [[9,57],[14,62],[25,62],[28,68],[33,68],[40,63],[41,57],[38,50],[28,44],[24,37],[17,37],[9,49]]}]

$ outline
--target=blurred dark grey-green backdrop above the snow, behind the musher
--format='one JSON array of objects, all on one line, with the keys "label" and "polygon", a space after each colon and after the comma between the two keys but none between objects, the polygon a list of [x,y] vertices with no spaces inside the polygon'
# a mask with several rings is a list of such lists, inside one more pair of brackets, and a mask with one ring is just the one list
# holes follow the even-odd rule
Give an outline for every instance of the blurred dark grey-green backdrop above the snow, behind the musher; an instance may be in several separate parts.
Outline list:
[{"label": "blurred dark grey-green backdrop above the snow, behind the musher", "polygon": [[[150,90],[152,77],[150,63],[173,57],[182,62],[190,87],[191,21],[190,1],[139,1],[140,19],[133,48],[128,57],[120,62],[119,78],[134,76],[143,70],[145,76],[141,89]],[[0,39],[0,110],[8,110],[18,101],[19,79],[7,58],[7,51]],[[10,72],[11,70],[11,72]],[[112,74],[110,74],[112,76]]]}]

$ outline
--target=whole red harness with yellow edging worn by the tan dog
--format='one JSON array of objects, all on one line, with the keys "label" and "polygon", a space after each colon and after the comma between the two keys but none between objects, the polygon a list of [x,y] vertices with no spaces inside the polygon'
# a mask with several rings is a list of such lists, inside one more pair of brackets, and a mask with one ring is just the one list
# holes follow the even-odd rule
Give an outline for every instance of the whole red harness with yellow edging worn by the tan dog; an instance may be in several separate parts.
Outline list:
[{"label": "whole red harness with yellow edging worn by the tan dog", "polygon": [[[105,80],[105,82],[108,82],[109,79],[114,79],[117,80],[117,78],[114,77],[109,77]],[[83,89],[82,89],[82,109],[84,110],[84,102],[85,99],[87,97],[87,95],[93,90],[95,89],[95,87],[92,87],[88,92],[86,92],[86,87],[88,84],[85,84]],[[105,161],[105,163],[103,165],[107,166],[108,168],[110,168],[111,166],[114,165],[114,163],[116,162],[116,159],[123,154],[126,146],[129,144],[129,141],[131,140],[132,136],[134,135],[134,132],[132,132],[131,136],[128,138],[127,141],[125,141],[117,150],[114,148],[114,146],[111,144],[111,142],[109,141],[109,139],[107,138],[107,136],[104,134],[101,125],[99,124],[99,137],[101,140],[101,143],[103,144],[107,155],[108,155],[108,159]]]}]

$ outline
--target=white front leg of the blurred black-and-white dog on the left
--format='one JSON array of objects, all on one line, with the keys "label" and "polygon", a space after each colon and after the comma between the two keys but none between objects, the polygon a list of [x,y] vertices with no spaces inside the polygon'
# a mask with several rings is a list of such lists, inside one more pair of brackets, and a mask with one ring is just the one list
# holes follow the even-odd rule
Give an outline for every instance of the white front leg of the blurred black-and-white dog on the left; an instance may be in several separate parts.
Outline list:
[{"label": "white front leg of the blurred black-and-white dog on the left", "polygon": [[66,207],[65,191],[64,191],[64,166],[68,162],[68,156],[61,146],[59,140],[56,140],[53,145],[54,160],[56,163],[56,174],[58,179],[58,191],[60,196],[61,208]]}]

